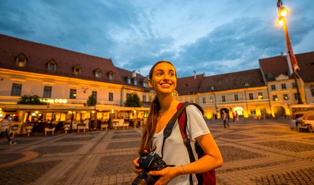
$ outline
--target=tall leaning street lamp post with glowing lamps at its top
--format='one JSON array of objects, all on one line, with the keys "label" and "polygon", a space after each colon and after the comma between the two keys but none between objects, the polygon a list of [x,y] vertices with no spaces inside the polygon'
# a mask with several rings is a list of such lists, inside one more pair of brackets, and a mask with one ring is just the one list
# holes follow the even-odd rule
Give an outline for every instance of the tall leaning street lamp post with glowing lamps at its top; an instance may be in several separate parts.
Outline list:
[{"label": "tall leaning street lamp post with glowing lamps at its top", "polygon": [[[300,89],[299,89],[297,77],[296,77],[296,69],[299,69],[299,67],[298,67],[296,58],[293,54],[292,45],[291,45],[291,41],[290,41],[290,37],[289,37],[289,33],[288,33],[288,27],[287,27],[287,23],[286,23],[287,20],[285,19],[285,17],[289,13],[289,10],[283,6],[283,2],[281,0],[278,0],[277,7],[278,7],[278,15],[279,15],[279,19],[278,19],[277,24],[280,26],[283,26],[283,28],[284,28],[285,38],[286,38],[287,60],[288,60],[288,62],[291,63],[291,67],[292,67],[292,71],[293,71],[294,84],[295,84],[296,92],[297,92],[296,94],[297,94],[297,98],[298,98],[298,104],[303,104],[303,101],[302,101],[302,98],[300,95]],[[288,65],[290,65],[290,64],[288,64]]]}]

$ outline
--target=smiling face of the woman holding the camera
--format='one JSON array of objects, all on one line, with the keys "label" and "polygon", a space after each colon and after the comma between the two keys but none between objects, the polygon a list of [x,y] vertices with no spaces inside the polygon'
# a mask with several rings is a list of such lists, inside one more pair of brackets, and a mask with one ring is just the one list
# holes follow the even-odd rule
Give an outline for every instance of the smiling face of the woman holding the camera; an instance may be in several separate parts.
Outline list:
[{"label": "smiling face of the woman holding the camera", "polygon": [[176,70],[171,64],[159,63],[155,66],[152,79],[148,82],[157,94],[170,94],[177,86]]}]

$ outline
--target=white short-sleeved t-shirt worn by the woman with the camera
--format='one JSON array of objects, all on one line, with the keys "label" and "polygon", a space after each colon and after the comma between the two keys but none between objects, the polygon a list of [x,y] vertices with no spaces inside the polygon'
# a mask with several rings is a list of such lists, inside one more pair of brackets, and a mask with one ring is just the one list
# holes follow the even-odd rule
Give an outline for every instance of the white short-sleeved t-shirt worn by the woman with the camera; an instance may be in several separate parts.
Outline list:
[{"label": "white short-sleeved t-shirt worn by the woman with the camera", "polygon": [[[206,125],[206,122],[202,116],[201,111],[193,105],[186,107],[187,114],[187,135],[191,140],[191,147],[197,160],[197,154],[195,151],[196,137],[210,133]],[[161,157],[161,148],[163,141],[163,130],[159,133],[155,133],[152,137],[152,148],[156,146],[155,152]],[[183,143],[182,135],[179,129],[178,120],[176,121],[171,135],[166,139],[163,146],[163,160],[168,165],[181,166],[190,163],[187,149]],[[193,184],[197,185],[197,178],[193,174]],[[168,183],[168,185],[190,185],[189,174],[185,174],[183,177],[179,175]]]}]

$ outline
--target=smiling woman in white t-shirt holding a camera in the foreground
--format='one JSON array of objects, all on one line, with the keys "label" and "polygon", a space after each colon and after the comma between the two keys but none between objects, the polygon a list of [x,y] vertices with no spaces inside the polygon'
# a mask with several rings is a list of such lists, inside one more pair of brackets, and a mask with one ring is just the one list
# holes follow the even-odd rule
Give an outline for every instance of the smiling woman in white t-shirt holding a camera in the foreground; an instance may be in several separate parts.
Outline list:
[{"label": "smiling woman in white t-shirt holding a camera in the foreground", "polygon": [[[161,156],[163,130],[168,121],[177,111],[178,96],[175,91],[177,85],[177,74],[174,66],[168,61],[157,62],[149,73],[149,87],[154,89],[156,97],[153,99],[147,123],[143,129],[142,141],[139,153],[148,153],[154,150]],[[150,94],[152,94],[150,92]],[[187,112],[187,134],[191,140],[192,149],[195,142],[201,145],[205,156],[190,163],[182,135],[179,131],[178,120],[172,130],[172,134],[164,143],[163,160],[174,167],[166,167],[160,171],[150,171],[151,175],[160,176],[155,185],[190,185],[189,174],[193,174],[193,184],[197,185],[195,173],[203,173],[218,168],[223,160],[220,151],[211,136],[209,129],[203,119],[201,112],[193,105],[186,107]],[[195,158],[197,155],[193,151]],[[138,158],[137,158],[138,159]],[[139,174],[142,170],[137,159],[134,159],[133,168]],[[180,176],[180,177],[178,177]]]}]

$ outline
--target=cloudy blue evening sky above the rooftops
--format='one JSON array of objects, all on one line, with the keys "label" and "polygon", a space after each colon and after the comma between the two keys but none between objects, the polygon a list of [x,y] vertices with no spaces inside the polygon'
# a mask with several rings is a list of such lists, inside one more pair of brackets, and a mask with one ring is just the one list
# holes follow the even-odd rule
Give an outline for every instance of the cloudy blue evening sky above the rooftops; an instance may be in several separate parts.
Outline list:
[{"label": "cloudy blue evening sky above the rooftops", "polygon": [[[112,58],[147,75],[165,59],[180,77],[258,68],[285,50],[277,0],[0,0],[0,33]],[[314,51],[314,0],[283,0],[294,53]]]}]

